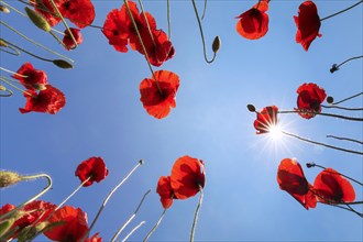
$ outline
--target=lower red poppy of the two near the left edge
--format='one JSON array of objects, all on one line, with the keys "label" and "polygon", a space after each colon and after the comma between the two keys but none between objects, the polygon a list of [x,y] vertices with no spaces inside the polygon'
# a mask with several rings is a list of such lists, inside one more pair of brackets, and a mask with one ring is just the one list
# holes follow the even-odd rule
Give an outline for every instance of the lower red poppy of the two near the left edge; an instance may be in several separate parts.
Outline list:
[{"label": "lower red poppy of the two near the left edge", "polygon": [[26,92],[32,96],[24,94],[26,103],[24,108],[19,109],[21,113],[33,111],[55,114],[66,105],[66,98],[61,90],[51,85],[46,85],[45,87],[46,89],[41,90],[38,94],[28,90]]}]

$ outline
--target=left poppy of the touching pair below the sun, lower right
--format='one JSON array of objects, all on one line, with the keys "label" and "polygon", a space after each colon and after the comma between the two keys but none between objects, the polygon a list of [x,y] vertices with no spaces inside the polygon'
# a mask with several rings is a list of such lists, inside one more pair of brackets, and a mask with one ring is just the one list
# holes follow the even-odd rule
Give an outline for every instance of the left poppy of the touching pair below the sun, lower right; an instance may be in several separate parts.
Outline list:
[{"label": "left poppy of the touching pair below the sun, lower right", "polygon": [[282,190],[286,190],[306,209],[317,206],[317,198],[312,194],[312,186],[305,178],[300,164],[293,158],[284,158],[278,166],[277,183]]}]

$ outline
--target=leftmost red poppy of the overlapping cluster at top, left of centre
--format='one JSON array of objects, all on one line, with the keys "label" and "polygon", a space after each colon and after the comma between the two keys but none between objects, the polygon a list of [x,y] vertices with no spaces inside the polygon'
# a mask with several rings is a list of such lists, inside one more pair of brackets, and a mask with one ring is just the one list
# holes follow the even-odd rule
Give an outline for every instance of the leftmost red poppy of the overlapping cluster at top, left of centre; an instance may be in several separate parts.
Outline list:
[{"label": "leftmost red poppy of the overlapping cluster at top, left of centre", "polygon": [[118,52],[128,52],[129,33],[127,25],[127,15],[113,9],[107,14],[106,21],[103,23],[102,33],[109,40],[109,44],[114,47]]}]

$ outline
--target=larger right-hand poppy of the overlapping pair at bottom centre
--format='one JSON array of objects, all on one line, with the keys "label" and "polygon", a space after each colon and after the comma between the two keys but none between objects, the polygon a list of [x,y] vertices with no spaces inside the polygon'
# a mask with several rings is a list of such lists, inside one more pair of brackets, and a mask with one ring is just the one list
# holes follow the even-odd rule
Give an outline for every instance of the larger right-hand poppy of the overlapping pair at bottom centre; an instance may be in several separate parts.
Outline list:
[{"label": "larger right-hand poppy of the overlapping pair at bottom centre", "polygon": [[190,156],[179,157],[173,165],[170,185],[178,199],[195,196],[199,187],[205,187],[205,164]]}]

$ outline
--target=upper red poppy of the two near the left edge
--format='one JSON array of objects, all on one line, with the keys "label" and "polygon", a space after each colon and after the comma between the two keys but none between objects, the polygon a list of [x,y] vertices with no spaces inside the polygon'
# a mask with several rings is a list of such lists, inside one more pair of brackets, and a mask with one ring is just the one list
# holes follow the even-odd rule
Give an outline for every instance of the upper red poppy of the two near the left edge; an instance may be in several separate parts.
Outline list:
[{"label": "upper red poppy of the two near the left edge", "polygon": [[40,69],[34,69],[31,63],[24,63],[16,72],[19,75],[12,75],[12,78],[20,80],[20,82],[29,90],[44,90],[48,84],[46,73]]}]

